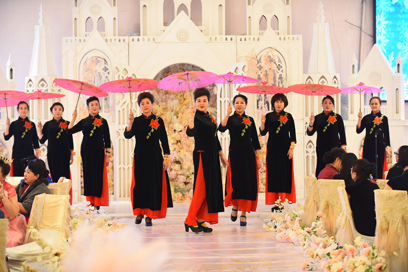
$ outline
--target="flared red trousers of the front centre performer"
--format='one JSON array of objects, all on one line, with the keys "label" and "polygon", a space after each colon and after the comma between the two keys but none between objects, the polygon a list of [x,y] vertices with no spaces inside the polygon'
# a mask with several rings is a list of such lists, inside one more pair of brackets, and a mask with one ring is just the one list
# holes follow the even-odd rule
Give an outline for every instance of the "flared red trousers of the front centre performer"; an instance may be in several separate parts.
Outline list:
[{"label": "flared red trousers of the front centre performer", "polygon": [[188,209],[187,218],[184,223],[189,226],[196,226],[197,219],[202,219],[211,225],[218,223],[218,212],[208,212],[206,182],[204,180],[204,173],[202,171],[201,154],[197,178],[195,180],[194,194],[193,198],[191,199],[190,208]]}]

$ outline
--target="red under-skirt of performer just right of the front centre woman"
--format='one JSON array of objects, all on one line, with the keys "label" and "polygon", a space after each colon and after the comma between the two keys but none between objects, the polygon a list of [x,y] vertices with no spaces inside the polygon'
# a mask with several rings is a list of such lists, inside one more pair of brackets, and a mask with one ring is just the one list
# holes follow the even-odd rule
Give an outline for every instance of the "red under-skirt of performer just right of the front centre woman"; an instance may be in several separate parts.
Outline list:
[{"label": "red under-skirt of performer just right of the front centre woman", "polygon": [[[226,180],[225,180],[225,189],[226,189],[226,196],[224,199],[224,206],[238,206],[238,210],[240,211],[257,211],[258,205],[258,192],[257,192],[257,199],[256,200],[248,200],[248,199],[232,199],[233,197],[233,186],[231,182],[231,160],[228,159],[228,168],[226,173]],[[257,167],[257,188],[259,188],[259,173]]]}]

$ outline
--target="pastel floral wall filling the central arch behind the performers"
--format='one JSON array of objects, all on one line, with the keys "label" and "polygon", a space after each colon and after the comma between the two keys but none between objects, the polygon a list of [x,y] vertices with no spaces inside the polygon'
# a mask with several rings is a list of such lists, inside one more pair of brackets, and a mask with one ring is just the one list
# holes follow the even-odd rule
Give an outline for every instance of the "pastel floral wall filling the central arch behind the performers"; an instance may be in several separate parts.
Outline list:
[{"label": "pastel floral wall filling the central arch behind the performers", "polygon": [[[154,79],[160,81],[168,75],[185,71],[203,70],[192,64],[173,64],[160,71]],[[212,85],[207,88],[211,93],[208,111],[212,116],[216,116],[217,88]],[[160,88],[156,88],[151,93],[155,96],[153,113],[163,118],[170,145],[171,164],[167,172],[173,201],[190,202],[194,183],[194,139],[186,135],[186,127],[190,119],[190,94],[188,91],[172,92]]]}]

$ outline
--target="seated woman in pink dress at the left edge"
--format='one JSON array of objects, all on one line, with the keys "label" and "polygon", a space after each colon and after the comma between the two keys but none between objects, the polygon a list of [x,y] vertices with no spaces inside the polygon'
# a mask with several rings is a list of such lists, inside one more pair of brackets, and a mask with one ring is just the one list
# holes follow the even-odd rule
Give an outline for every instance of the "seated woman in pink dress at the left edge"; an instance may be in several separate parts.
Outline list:
[{"label": "seated woman in pink dress at the left edge", "polygon": [[10,165],[7,159],[0,156],[0,210],[4,212],[5,218],[9,220],[7,227],[7,248],[20,246],[25,238],[25,218],[18,215],[17,193],[13,185],[6,181],[10,173]]}]

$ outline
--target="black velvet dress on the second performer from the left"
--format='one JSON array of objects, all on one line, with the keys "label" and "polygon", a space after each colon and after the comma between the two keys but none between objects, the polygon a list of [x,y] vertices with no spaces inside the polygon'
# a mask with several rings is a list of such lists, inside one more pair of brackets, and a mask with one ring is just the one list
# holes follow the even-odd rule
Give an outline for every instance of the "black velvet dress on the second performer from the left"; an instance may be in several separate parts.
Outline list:
[{"label": "black velvet dress on the second performer from the left", "polygon": [[69,121],[64,119],[47,121],[42,128],[41,144],[48,140],[47,160],[53,182],[60,177],[70,178],[69,161],[73,150],[72,135],[67,133]]}]

